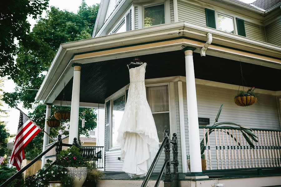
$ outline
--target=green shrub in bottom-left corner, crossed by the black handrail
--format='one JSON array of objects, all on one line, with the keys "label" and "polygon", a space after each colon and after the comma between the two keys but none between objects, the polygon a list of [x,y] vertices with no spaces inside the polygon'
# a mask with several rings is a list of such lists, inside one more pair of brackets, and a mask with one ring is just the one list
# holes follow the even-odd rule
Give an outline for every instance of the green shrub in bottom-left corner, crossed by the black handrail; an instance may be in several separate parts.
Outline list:
[{"label": "green shrub in bottom-left corner, crossed by the black handrail", "polygon": [[[17,173],[16,168],[8,168],[6,166],[0,166],[0,184],[3,184],[6,180],[8,180],[12,175]],[[10,187],[25,187],[23,175],[19,175],[16,179],[14,179],[10,184]]]}]

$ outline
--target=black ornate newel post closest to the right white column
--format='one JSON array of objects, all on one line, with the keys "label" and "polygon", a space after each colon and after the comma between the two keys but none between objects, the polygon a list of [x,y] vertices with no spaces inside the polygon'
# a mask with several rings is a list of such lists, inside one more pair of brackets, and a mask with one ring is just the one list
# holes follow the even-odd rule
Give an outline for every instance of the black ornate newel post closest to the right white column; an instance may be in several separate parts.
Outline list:
[{"label": "black ornate newel post closest to the right white column", "polygon": [[173,134],[172,149],[173,149],[173,165],[174,165],[174,175],[173,175],[173,186],[179,186],[179,161],[178,161],[178,137],[177,134]]}]

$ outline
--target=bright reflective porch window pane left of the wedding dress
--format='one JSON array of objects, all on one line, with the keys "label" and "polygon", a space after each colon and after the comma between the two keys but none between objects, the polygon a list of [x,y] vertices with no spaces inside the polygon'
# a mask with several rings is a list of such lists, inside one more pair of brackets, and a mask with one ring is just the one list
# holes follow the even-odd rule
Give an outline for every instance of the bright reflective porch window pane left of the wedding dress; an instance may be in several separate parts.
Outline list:
[{"label": "bright reflective porch window pane left of the wedding dress", "polygon": [[112,126],[111,126],[111,147],[119,146],[117,143],[118,128],[120,126],[125,109],[125,95],[112,101]]}]

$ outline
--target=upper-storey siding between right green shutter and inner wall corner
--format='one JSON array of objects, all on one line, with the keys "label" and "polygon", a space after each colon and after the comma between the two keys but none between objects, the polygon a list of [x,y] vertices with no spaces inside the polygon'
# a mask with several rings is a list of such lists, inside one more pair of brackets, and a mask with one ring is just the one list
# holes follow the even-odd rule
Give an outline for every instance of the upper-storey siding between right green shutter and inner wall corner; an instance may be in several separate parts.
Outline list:
[{"label": "upper-storey siding between right green shutter and inner wall corner", "polygon": [[266,42],[264,26],[244,21],[246,37]]}]

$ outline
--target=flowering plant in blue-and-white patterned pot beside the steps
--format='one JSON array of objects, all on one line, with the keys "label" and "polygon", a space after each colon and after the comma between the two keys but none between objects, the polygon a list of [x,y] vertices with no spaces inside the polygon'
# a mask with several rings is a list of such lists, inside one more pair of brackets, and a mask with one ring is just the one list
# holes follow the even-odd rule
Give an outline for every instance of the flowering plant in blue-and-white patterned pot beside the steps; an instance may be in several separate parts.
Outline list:
[{"label": "flowering plant in blue-and-white patterned pot beside the steps", "polygon": [[62,150],[57,161],[67,170],[67,175],[73,180],[73,186],[82,187],[86,180],[89,164],[81,156],[79,148],[71,146],[67,150]]}]

